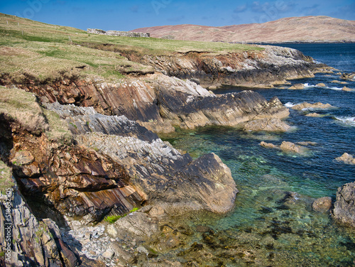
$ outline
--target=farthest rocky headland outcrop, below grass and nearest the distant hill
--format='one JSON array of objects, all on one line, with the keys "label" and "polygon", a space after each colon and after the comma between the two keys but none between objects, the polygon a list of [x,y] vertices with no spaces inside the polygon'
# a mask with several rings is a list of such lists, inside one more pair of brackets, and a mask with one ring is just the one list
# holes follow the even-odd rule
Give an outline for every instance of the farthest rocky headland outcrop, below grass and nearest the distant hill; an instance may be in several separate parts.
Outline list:
[{"label": "farthest rocky headland outcrop, below grass and nearest the distant hill", "polygon": [[131,61],[150,65],[157,72],[180,79],[197,79],[204,87],[211,85],[238,85],[244,87],[273,87],[286,80],[314,77],[323,72],[300,51],[276,46],[262,46],[263,51],[246,51],[213,55],[208,52],[177,53],[173,56],[124,53]]}]

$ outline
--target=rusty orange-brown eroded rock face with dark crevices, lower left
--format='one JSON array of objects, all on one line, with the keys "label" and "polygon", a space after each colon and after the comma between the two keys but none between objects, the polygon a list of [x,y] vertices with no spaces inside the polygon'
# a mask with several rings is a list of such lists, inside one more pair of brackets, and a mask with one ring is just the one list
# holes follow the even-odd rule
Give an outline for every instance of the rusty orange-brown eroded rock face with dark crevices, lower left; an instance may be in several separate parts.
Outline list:
[{"label": "rusty orange-brown eroded rock face with dark crevices, lower left", "polygon": [[125,213],[141,204],[124,167],[94,150],[17,130],[13,146],[9,161],[28,200],[87,222],[102,219],[112,209]]}]

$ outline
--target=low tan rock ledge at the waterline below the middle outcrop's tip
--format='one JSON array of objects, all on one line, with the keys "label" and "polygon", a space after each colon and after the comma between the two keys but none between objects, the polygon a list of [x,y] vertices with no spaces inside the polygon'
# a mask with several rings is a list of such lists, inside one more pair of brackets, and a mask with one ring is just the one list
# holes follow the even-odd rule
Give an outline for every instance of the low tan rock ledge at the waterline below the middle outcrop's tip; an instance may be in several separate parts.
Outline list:
[{"label": "low tan rock ledge at the waterline below the middle outcrop's tip", "polygon": [[280,119],[256,119],[243,126],[244,131],[288,131],[291,126]]}]

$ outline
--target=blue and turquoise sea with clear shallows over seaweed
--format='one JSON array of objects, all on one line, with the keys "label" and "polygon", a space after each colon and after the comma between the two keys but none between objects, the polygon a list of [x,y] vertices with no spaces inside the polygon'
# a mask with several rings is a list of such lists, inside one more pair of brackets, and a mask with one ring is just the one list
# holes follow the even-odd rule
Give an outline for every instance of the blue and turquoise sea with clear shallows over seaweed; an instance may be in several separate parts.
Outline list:
[{"label": "blue and turquoise sea with clear shallows over seaweed", "polygon": [[[300,50],[336,70],[290,80],[291,85],[302,83],[305,89],[280,85],[255,91],[266,99],[277,96],[289,108],[302,102],[329,103],[332,108],[290,109],[285,121],[294,129],[286,133],[207,126],[161,136],[193,158],[216,153],[231,169],[239,190],[231,212],[224,216],[201,214],[190,218],[190,224],[210,227],[214,236],[219,234],[219,239],[228,239],[229,246],[235,243],[234,248],[239,248],[233,260],[226,251],[229,258],[222,259],[220,266],[355,266],[354,229],[337,224],[329,213],[312,210],[315,199],[332,197],[334,202],[338,187],[355,181],[355,165],[335,160],[343,153],[355,155],[355,82],[340,79],[340,73],[355,72],[355,43],[281,46]],[[318,87],[319,83],[325,87]],[[354,90],[343,91],[344,86]],[[215,93],[243,89],[222,87]],[[315,112],[320,116],[305,116]],[[265,148],[261,141],[311,143],[308,153],[297,155]],[[203,238],[195,234],[191,242],[203,244]],[[213,266],[207,258],[200,261]]]}]

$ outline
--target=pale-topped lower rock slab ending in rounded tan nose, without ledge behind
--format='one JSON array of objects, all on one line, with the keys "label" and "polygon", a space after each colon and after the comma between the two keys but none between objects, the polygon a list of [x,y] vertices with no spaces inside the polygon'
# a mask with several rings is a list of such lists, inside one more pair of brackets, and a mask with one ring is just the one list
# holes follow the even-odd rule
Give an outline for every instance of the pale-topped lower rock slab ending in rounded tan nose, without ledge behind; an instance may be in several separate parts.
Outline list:
[{"label": "pale-topped lower rock slab ending in rounded tan nose, without ledge behind", "polygon": [[126,166],[142,199],[148,204],[161,204],[165,211],[207,209],[224,213],[234,205],[238,192],[235,182],[229,168],[214,153],[192,161],[188,154],[181,155],[160,139],[150,143],[98,133],[77,136],[77,142],[95,146]]}]

